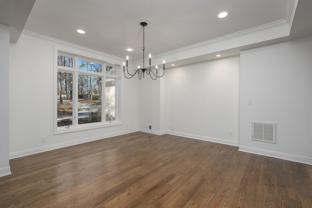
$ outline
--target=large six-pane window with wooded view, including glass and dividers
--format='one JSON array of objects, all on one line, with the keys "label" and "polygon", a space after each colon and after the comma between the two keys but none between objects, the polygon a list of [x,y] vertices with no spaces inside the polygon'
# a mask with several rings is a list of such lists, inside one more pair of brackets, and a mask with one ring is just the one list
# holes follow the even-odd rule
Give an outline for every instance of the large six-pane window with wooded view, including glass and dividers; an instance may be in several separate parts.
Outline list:
[{"label": "large six-pane window with wooded view, including glass and dividers", "polygon": [[57,59],[55,133],[117,124],[117,66],[59,52]]}]

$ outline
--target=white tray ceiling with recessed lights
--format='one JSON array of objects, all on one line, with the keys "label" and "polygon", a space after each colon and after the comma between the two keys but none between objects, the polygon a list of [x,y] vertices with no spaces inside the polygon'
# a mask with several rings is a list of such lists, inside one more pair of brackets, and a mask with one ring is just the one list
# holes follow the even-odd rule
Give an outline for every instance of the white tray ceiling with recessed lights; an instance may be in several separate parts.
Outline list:
[{"label": "white tray ceiling with recessed lights", "polygon": [[[219,19],[222,11],[229,15]],[[312,35],[312,0],[0,0],[0,23],[11,26],[13,42],[23,28],[113,56],[129,55],[132,61],[142,59],[141,21],[148,23],[146,56],[165,56],[233,35],[251,37],[255,30],[275,33],[241,44],[233,38],[233,46],[215,49],[225,57],[244,48]],[[285,33],[285,24],[292,26],[290,32]],[[78,34],[77,29],[86,33]],[[126,51],[129,47],[134,50]],[[211,52],[172,61],[214,59]]]}]

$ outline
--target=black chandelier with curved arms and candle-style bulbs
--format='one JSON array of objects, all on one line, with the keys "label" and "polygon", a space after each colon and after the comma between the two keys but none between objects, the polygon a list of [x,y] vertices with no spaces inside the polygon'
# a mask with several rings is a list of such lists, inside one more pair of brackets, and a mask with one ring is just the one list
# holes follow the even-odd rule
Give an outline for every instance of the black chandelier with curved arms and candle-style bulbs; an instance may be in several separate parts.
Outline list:
[{"label": "black chandelier with curved arms and candle-style bulbs", "polygon": [[128,77],[126,76],[126,73],[125,73],[125,62],[123,62],[123,75],[125,76],[125,78],[130,79],[130,78],[133,78],[137,74],[138,75],[138,79],[140,80],[142,78],[142,75],[143,75],[143,78],[144,78],[144,74],[146,73],[147,75],[150,75],[150,77],[153,80],[156,80],[158,77],[162,77],[165,74],[165,60],[163,62],[163,73],[162,73],[161,76],[158,76],[158,67],[157,67],[157,65],[156,65],[156,74],[151,70],[151,54],[149,55],[150,66],[148,68],[146,68],[144,66],[144,50],[145,50],[145,47],[144,47],[144,27],[147,26],[147,23],[146,22],[141,22],[140,25],[143,27],[143,47],[142,47],[142,50],[143,50],[143,67],[141,68],[140,66],[138,66],[136,72],[134,74],[130,74],[129,71],[128,71],[128,59],[129,59],[129,56],[127,56],[126,67],[127,67],[127,76]]}]

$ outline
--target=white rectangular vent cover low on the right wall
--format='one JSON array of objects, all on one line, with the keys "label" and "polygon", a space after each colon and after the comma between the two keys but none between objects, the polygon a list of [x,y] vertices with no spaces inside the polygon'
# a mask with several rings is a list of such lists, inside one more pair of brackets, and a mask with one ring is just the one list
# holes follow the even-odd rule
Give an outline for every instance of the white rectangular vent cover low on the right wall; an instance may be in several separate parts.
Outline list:
[{"label": "white rectangular vent cover low on the right wall", "polygon": [[252,140],[276,143],[275,123],[252,122]]}]

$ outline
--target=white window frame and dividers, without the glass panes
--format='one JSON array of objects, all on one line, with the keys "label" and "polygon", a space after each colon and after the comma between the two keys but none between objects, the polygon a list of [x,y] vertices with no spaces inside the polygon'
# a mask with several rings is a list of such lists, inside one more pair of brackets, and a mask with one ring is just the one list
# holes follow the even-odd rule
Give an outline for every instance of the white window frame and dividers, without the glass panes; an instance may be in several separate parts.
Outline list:
[{"label": "white window frame and dividers, without the glass panes", "polygon": [[[88,51],[86,51],[88,52]],[[120,96],[121,96],[121,90],[120,90],[120,65],[114,64],[114,63],[107,63],[105,61],[98,59],[98,54],[90,54],[86,53],[85,55],[83,52],[79,52],[79,55],[77,52],[73,53],[71,50],[68,49],[60,49],[59,47],[55,46],[54,50],[54,119],[53,119],[53,126],[54,126],[54,134],[61,134],[61,133],[68,133],[68,132],[75,132],[75,131],[81,131],[81,130],[88,130],[88,129],[95,129],[95,128],[102,128],[102,127],[108,127],[108,126],[114,126],[114,125],[122,125],[121,123],[121,117],[120,117],[120,107],[121,104],[119,103]],[[68,66],[59,66],[58,65],[58,55],[67,56],[73,58],[73,67]],[[94,57],[94,58],[91,58]],[[101,72],[93,72],[93,71],[85,71],[81,70],[78,67],[78,60],[83,61],[90,61],[90,62],[96,62],[100,63],[102,65]],[[106,73],[106,66],[113,66],[115,68],[115,75],[110,75]],[[58,72],[68,72],[73,74],[73,95],[72,95],[72,125],[68,126],[58,126]],[[78,124],[78,75],[89,75],[89,76],[96,76],[101,77],[102,84],[101,84],[101,122],[94,122],[94,123],[88,123],[88,124]],[[106,81],[107,78],[115,79],[115,120],[113,121],[106,121]]]}]

